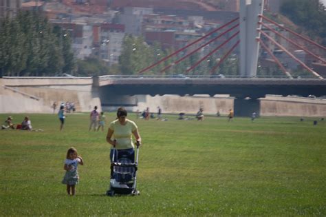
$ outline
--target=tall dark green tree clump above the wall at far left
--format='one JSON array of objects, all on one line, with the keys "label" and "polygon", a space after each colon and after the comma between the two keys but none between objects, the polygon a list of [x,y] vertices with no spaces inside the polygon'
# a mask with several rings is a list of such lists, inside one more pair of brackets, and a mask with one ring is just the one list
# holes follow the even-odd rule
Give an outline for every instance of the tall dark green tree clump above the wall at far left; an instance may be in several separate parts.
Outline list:
[{"label": "tall dark green tree clump above the wall at far left", "polygon": [[53,28],[41,12],[19,12],[0,21],[3,76],[54,76],[75,69],[69,34]]}]

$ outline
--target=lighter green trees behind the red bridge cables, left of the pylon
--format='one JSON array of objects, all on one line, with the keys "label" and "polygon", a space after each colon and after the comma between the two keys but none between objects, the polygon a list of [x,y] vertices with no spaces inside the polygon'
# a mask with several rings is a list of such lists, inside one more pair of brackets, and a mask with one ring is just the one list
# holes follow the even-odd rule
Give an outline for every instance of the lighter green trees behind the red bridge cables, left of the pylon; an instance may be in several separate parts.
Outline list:
[{"label": "lighter green trees behind the red bridge cables, left of the pylon", "polygon": [[[180,63],[174,64],[175,61],[194,49],[195,48],[190,47],[189,50],[184,50],[180,52],[180,54],[171,56],[171,58],[166,59],[166,61],[163,61],[150,70],[147,70],[144,74],[211,74],[210,70],[217,64],[223,52],[217,52],[217,54],[209,56],[188,73],[186,71],[191,67],[191,65],[195,65],[195,63],[202,58],[198,52],[188,56],[188,58]],[[128,35],[124,37],[122,43],[122,53],[119,59],[120,72],[122,74],[138,74],[140,70],[160,61],[164,56],[169,56],[173,52],[175,52],[173,48],[162,49],[159,43],[147,45],[142,37]],[[223,73],[235,75],[238,72],[237,63],[237,58],[226,59],[226,61],[224,61],[224,63],[222,63],[212,74]],[[172,66],[167,70],[164,70],[164,72],[161,72],[168,65]]]}]

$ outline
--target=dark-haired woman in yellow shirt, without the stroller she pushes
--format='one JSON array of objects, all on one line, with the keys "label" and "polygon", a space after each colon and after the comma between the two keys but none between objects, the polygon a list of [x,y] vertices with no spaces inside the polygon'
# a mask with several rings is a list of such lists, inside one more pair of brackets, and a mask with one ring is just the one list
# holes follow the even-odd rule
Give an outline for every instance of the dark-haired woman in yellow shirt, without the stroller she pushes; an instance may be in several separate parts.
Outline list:
[{"label": "dark-haired woman in yellow shirt, without the stroller she pushes", "polygon": [[132,135],[135,136],[136,144],[140,145],[141,138],[138,132],[138,127],[135,122],[127,119],[127,110],[123,107],[119,107],[117,111],[116,121],[112,121],[107,131],[107,142],[110,143],[114,149],[111,149],[110,159],[112,161],[113,152],[115,159],[120,154],[127,154],[130,160],[135,162],[135,147],[132,141]]}]

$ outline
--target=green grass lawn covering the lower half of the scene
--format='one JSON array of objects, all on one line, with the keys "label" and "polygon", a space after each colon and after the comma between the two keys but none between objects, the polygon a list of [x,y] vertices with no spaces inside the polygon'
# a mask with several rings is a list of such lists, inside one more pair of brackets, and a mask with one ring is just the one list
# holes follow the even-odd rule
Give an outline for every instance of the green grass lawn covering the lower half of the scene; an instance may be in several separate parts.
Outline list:
[{"label": "green grass lawn covering the lower half of the scene", "polygon": [[[88,132],[88,114],[68,115],[63,132],[56,114],[30,118],[44,131],[0,130],[0,216],[326,216],[326,121],[129,114],[143,141],[141,194],[111,198],[110,145],[106,132]],[[85,161],[74,197],[61,184],[70,146]]]}]

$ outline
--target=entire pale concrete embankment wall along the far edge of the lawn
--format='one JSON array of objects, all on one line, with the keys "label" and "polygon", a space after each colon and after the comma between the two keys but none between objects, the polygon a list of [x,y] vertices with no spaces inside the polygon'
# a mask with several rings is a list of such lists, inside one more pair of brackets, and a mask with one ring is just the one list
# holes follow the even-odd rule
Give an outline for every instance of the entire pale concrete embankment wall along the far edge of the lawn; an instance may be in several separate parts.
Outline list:
[{"label": "entire pale concrete embankment wall along the far edge of the lawn", "polygon": [[[101,108],[96,78],[28,78],[4,77],[0,79],[0,113],[50,113],[55,101],[74,102],[77,112],[89,112],[94,105]],[[114,96],[114,94],[113,94]],[[129,105],[128,110],[142,112],[149,107],[157,112],[157,106],[164,113],[196,114],[199,108],[204,114],[228,114],[234,108],[235,98],[226,95],[209,96],[116,96],[105,93],[102,103],[105,106]],[[303,97],[266,96],[260,100],[261,116],[326,116],[326,99]],[[104,107],[103,110],[116,110],[116,107]],[[237,116],[237,114],[235,114]]]}]

